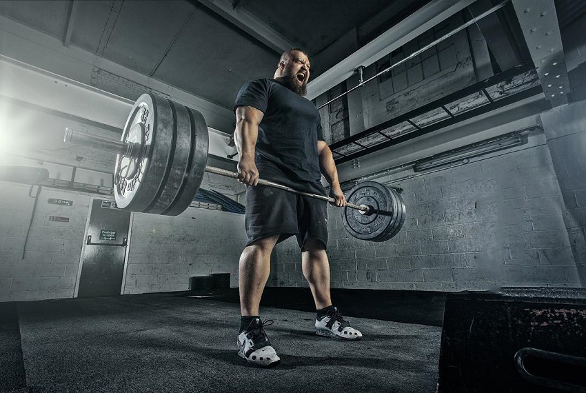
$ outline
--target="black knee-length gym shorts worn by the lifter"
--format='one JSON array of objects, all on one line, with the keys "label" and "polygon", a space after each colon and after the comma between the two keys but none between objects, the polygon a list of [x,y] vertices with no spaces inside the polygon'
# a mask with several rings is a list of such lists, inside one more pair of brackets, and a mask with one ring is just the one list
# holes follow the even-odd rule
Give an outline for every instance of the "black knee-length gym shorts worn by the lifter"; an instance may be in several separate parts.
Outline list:
[{"label": "black knee-length gym shorts worn by the lifter", "polygon": [[[310,190],[302,191],[325,195],[321,184],[310,185]],[[265,185],[249,187],[246,189],[245,226],[246,245],[281,234],[277,243],[295,235],[301,249],[307,239],[319,240],[326,248],[327,202]]]}]

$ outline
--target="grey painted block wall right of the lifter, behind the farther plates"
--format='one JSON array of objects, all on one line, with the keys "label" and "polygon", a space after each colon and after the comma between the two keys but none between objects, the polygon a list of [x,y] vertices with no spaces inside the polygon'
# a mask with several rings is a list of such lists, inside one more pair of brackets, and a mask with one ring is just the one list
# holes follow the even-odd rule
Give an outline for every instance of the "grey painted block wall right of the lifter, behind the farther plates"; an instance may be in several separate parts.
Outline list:
[{"label": "grey painted block wall right of the lifter, behind the farther plates", "polygon": [[[493,154],[494,155],[494,154]],[[496,157],[401,181],[407,219],[385,243],[352,238],[329,210],[332,288],[478,290],[579,286],[565,207],[545,135]],[[305,286],[293,239],[274,251],[269,285]]]}]

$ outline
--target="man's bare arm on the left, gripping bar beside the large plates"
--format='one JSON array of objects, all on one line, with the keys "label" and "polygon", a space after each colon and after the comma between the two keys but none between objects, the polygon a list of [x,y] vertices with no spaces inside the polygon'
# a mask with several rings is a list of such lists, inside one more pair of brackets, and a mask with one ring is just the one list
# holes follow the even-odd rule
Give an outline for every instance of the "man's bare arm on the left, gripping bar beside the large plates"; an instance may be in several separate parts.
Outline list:
[{"label": "man's bare arm on the left, gripping bar beside the large plates", "polygon": [[263,116],[263,112],[252,106],[239,106],[236,108],[234,142],[240,157],[238,180],[245,185],[257,185],[259,183],[259,170],[254,163],[254,147],[256,146],[259,124]]}]

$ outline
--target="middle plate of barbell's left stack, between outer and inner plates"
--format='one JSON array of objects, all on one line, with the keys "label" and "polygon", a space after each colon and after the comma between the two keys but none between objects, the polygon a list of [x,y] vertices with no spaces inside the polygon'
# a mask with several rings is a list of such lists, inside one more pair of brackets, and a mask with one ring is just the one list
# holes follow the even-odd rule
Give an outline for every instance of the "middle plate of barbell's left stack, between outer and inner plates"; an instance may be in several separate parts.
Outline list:
[{"label": "middle plate of barbell's left stack, between outer and inner plates", "polygon": [[158,195],[152,203],[143,210],[145,213],[163,214],[169,210],[170,206],[178,194],[185,189],[185,182],[188,181],[185,176],[190,169],[193,159],[192,126],[188,110],[184,105],[179,105],[173,101],[168,101],[172,110],[172,145],[169,150],[169,165],[167,167],[165,183],[159,190]]}]

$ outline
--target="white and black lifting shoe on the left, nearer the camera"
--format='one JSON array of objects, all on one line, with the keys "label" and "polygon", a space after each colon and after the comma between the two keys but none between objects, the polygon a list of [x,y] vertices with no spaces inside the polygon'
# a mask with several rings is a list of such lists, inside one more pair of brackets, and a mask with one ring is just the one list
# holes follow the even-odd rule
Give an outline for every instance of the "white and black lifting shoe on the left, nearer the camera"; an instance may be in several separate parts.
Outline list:
[{"label": "white and black lifting shoe on the left, nearer the camera", "polygon": [[271,346],[269,337],[263,329],[272,323],[271,319],[266,319],[263,322],[259,318],[253,319],[248,328],[238,335],[239,356],[261,367],[274,367],[281,363],[279,355]]}]

